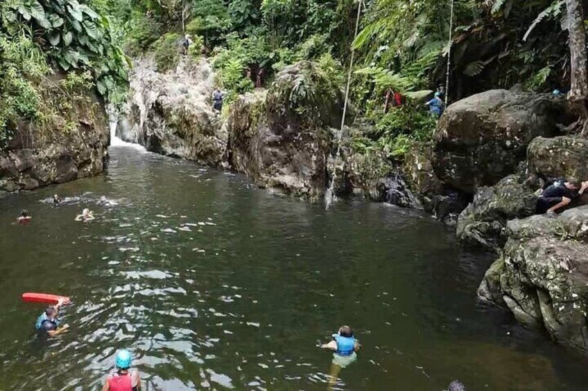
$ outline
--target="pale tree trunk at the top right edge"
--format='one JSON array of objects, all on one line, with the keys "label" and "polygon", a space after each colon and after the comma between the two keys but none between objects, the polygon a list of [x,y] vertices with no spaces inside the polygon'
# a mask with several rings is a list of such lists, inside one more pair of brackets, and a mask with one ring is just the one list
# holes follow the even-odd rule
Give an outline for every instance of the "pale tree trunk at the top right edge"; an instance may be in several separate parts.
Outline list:
[{"label": "pale tree trunk at the top right edge", "polygon": [[588,136],[588,55],[582,0],[566,0],[566,8],[571,57],[568,99],[582,116],[582,136]]}]

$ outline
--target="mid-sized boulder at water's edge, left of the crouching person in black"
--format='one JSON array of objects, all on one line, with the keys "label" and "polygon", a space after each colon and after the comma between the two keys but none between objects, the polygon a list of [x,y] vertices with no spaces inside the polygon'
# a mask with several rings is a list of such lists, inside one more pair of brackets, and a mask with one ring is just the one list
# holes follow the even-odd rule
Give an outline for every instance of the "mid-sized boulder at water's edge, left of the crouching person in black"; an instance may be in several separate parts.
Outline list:
[{"label": "mid-sized boulder at water's edge, left of the crouching person in black", "polygon": [[505,239],[503,231],[510,219],[535,212],[537,196],[533,189],[510,175],[491,187],[478,188],[474,201],[461,212],[456,226],[463,244],[498,250]]}]

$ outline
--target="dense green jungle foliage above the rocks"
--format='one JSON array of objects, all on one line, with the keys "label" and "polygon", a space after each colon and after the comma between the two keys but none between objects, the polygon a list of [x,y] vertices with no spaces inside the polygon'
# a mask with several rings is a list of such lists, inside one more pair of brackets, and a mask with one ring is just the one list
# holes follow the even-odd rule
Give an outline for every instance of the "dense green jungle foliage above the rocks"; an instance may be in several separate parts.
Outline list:
[{"label": "dense green jungle foliage above the rocks", "polygon": [[[189,55],[211,57],[229,101],[299,60],[317,62],[343,86],[353,47],[352,101],[374,124],[355,145],[391,158],[430,138],[435,118],[424,98],[444,86],[449,53],[449,102],[515,84],[569,88],[565,1],[455,0],[450,44],[451,4],[365,0],[354,37],[354,0],[5,0],[0,142],[19,120],[46,119],[44,80],[62,90],[92,85],[122,102],[126,55],[152,53],[166,71],[180,58],[184,33],[193,39]],[[404,104],[385,110],[388,91]]]}]

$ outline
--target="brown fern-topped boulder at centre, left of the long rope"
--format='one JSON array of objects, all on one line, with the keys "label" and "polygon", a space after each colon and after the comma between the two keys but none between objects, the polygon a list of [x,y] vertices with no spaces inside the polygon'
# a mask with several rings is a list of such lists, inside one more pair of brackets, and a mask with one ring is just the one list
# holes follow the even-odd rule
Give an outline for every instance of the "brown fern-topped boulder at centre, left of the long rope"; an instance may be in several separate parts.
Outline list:
[{"label": "brown fern-topped boulder at centre, left of the long rope", "polygon": [[343,93],[312,62],[278,73],[267,93],[247,93],[227,120],[228,161],[258,185],[320,199]]}]

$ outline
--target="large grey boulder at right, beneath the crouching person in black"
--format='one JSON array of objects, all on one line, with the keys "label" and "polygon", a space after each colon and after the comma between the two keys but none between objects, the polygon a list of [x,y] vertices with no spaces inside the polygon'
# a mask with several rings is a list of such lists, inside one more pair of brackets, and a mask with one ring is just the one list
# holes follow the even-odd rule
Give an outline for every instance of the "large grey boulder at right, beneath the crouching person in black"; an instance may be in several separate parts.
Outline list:
[{"label": "large grey boulder at right, beneath the crouching person in black", "polygon": [[478,296],[557,343],[588,351],[588,206],[509,221],[506,235]]}]

